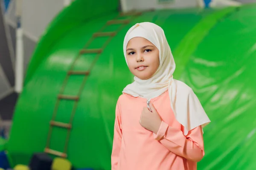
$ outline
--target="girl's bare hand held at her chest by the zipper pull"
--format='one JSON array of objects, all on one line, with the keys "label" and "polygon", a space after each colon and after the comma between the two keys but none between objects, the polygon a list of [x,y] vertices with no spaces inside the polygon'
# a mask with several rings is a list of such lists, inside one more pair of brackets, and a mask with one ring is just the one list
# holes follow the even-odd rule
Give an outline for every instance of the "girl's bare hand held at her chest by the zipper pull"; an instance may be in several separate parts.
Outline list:
[{"label": "girl's bare hand held at her chest by the zipper pull", "polygon": [[157,131],[162,123],[162,119],[151,103],[149,104],[149,107],[151,108],[152,112],[150,112],[147,107],[143,108],[140,115],[140,125],[145,129],[157,134]]}]

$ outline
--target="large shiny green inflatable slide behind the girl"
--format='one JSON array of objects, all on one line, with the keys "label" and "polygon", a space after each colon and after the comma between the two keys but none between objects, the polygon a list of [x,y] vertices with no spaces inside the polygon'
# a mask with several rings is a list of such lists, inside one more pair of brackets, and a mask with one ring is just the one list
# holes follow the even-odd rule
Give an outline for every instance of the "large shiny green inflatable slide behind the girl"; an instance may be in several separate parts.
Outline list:
[{"label": "large shiny green inflatable slide behind the girl", "polygon": [[256,169],[256,5],[119,14],[118,0],[76,0],[41,37],[7,144],[13,165],[33,153],[111,170],[116,101],[133,80],[122,43],[135,23],[161,26],[175,79],[197,94],[211,123],[198,170]]}]

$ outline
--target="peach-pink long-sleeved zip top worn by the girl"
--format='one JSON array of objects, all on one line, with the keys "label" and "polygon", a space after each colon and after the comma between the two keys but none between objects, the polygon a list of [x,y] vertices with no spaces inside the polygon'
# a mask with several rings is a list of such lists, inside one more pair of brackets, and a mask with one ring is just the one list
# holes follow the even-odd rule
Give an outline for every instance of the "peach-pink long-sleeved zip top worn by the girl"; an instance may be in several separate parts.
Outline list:
[{"label": "peach-pink long-sleeved zip top worn by the girl", "polygon": [[151,99],[162,118],[157,134],[139,123],[147,100],[122,94],[116,105],[111,170],[196,170],[204,156],[202,129],[183,135],[175,119],[168,91]]}]

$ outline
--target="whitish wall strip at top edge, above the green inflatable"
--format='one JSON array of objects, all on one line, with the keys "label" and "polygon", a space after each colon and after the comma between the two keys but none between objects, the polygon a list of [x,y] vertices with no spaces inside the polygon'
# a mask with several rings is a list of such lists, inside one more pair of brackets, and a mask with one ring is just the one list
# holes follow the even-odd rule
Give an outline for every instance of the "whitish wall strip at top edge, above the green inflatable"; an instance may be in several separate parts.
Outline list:
[{"label": "whitish wall strip at top edge, above the green inflatable", "polygon": [[202,0],[169,0],[166,3],[159,3],[158,0],[121,0],[123,11],[163,9],[163,8],[191,8],[197,7]]}]

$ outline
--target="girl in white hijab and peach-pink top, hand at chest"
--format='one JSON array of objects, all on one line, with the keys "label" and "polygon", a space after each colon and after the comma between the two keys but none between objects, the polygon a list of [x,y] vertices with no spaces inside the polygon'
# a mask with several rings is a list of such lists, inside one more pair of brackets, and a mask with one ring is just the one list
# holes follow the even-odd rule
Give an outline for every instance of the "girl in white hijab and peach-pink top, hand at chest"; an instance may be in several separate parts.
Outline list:
[{"label": "girl in white hijab and peach-pink top, hand at chest", "polygon": [[134,82],[116,105],[112,170],[196,170],[210,120],[191,88],[173,79],[175,62],[164,31],[137,23],[123,45]]}]

